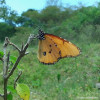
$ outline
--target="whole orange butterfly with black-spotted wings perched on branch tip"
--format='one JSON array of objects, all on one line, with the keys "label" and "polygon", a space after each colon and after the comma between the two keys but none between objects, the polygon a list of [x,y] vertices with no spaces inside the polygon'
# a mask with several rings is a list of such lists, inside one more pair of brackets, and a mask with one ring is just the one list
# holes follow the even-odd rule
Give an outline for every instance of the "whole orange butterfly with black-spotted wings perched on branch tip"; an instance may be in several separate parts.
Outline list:
[{"label": "whole orange butterfly with black-spotted wings perched on branch tip", "polygon": [[71,42],[58,36],[44,33],[39,29],[38,59],[43,64],[54,64],[64,57],[75,57],[80,49]]}]

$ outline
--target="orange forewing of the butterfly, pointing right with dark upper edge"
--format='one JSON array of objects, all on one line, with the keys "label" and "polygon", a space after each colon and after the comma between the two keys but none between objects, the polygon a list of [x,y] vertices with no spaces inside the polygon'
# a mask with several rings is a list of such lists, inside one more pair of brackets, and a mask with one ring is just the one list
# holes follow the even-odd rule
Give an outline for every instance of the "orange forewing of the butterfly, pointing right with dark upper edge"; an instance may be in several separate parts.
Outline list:
[{"label": "orange forewing of the butterfly, pointing right with dark upper edge", "polygon": [[71,42],[52,34],[46,34],[45,36],[47,38],[50,38],[55,43],[55,45],[60,49],[62,58],[75,57],[80,54],[79,48]]}]

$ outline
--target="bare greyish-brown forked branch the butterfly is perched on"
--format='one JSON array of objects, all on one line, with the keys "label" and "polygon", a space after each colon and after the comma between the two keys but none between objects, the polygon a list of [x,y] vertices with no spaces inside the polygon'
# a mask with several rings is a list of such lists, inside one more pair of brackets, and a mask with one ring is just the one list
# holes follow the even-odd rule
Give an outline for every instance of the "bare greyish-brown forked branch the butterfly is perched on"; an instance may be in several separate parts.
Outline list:
[{"label": "bare greyish-brown forked branch the butterfly is perched on", "polygon": [[[17,65],[18,63],[20,62],[21,58],[23,56],[25,56],[26,54],[28,54],[26,52],[30,42],[36,38],[34,35],[30,35],[28,40],[27,40],[27,43],[24,45],[22,45],[22,48],[19,49],[15,44],[13,44],[12,42],[9,41],[8,38],[5,38],[5,42],[4,42],[4,57],[3,57],[3,63],[4,63],[4,66],[3,66],[3,78],[4,78],[4,100],[7,100],[7,82],[8,82],[8,79],[10,78],[10,76],[13,74],[13,72],[15,71],[15,69],[17,68]],[[7,49],[7,46],[9,45],[12,45],[13,47],[16,48],[16,50],[18,50],[19,52],[19,56],[15,62],[15,64],[13,65],[10,73],[7,73],[8,72],[8,68],[9,68],[9,56],[10,56],[10,53],[8,53],[8,56],[6,55],[6,49]],[[8,75],[7,75],[8,74]],[[19,76],[20,77],[20,76]],[[18,77],[18,78],[19,78]],[[18,80],[18,79],[17,79]],[[16,80],[16,81],[17,81]]]}]

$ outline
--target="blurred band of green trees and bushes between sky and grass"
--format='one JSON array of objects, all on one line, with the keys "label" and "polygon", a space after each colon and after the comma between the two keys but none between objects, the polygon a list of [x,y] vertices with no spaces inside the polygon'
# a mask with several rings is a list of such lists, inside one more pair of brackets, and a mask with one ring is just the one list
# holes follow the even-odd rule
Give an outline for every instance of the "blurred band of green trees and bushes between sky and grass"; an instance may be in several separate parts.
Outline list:
[{"label": "blurred band of green trees and bushes between sky and grass", "polygon": [[[2,9],[0,16],[5,20],[5,23],[0,23],[1,41],[5,36],[13,36],[15,33],[13,40],[21,42],[30,33],[36,34],[38,27],[42,27],[45,32],[59,34],[67,39],[100,42],[100,3],[97,6],[66,8],[48,5],[41,11],[28,9],[20,16],[9,7],[5,6],[5,8]],[[17,27],[16,31],[15,27]],[[20,36],[22,38],[18,38]]]}]

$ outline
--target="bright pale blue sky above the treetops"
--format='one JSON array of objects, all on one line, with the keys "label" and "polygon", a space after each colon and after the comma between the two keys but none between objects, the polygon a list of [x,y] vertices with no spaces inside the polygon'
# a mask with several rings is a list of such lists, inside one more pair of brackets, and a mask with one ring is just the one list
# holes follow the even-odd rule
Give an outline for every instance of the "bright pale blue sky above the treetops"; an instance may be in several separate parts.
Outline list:
[{"label": "bright pale blue sky above the treetops", "polygon": [[[79,2],[85,6],[96,5],[100,0],[60,0],[64,6],[66,5],[78,5]],[[46,0],[6,0],[6,4],[11,7],[12,10],[21,14],[28,9],[42,10],[46,7]]]}]

